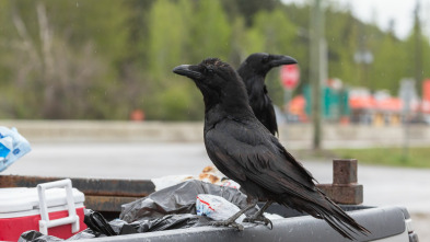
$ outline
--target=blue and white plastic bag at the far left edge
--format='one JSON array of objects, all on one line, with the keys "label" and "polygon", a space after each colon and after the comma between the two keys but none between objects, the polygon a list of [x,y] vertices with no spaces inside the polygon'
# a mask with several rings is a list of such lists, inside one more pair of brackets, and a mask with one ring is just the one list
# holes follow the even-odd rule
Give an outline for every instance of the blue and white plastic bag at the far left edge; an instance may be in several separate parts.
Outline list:
[{"label": "blue and white plastic bag at the far left edge", "polygon": [[0,172],[32,150],[16,128],[0,126]]}]

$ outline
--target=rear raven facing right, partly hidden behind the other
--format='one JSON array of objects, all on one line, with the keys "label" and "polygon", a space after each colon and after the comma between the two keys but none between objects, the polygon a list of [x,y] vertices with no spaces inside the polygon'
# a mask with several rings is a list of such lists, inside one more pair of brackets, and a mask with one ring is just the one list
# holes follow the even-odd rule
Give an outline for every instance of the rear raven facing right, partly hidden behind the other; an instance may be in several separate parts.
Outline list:
[{"label": "rear raven facing right, partly hidden behind the other", "polygon": [[249,55],[237,69],[243,82],[245,82],[249,105],[255,116],[272,135],[278,135],[278,124],[274,104],[267,93],[265,78],[274,67],[297,62],[289,56],[255,53]]}]

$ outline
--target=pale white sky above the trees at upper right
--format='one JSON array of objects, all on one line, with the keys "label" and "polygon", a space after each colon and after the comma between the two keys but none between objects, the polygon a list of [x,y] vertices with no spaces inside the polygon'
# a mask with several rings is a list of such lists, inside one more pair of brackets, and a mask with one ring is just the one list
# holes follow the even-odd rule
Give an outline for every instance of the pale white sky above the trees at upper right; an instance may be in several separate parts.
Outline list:
[{"label": "pale white sky above the trees at upper right", "polygon": [[[313,0],[282,0],[286,3],[305,3]],[[326,0],[322,0],[323,2]],[[430,0],[419,0],[423,33],[430,34]],[[352,13],[367,23],[376,23],[383,31],[388,30],[394,20],[395,33],[399,38],[406,38],[414,26],[414,10],[417,0],[330,0],[340,8],[350,5]]]}]

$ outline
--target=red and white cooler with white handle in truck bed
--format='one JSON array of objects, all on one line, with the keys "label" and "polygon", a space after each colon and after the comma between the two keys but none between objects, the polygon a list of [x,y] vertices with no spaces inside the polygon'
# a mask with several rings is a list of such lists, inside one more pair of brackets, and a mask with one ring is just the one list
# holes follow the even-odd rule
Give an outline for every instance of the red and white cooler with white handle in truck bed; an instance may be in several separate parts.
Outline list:
[{"label": "red and white cooler with white handle in truck bed", "polygon": [[[62,224],[47,229],[47,234],[68,239],[86,229],[83,222],[84,195],[72,188],[72,200],[77,211],[79,228],[72,232],[72,224]],[[45,204],[49,220],[69,216],[67,193],[63,188],[50,188],[45,192]],[[0,241],[18,241],[28,230],[40,230],[40,203],[36,188],[0,188]]]}]

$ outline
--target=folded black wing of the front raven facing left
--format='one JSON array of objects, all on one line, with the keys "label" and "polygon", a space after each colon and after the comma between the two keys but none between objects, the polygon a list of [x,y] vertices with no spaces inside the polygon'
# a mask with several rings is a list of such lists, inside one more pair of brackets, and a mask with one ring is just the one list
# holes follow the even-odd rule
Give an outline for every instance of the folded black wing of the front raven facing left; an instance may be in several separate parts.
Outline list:
[{"label": "folded black wing of the front raven facing left", "polygon": [[230,178],[251,180],[277,194],[315,191],[311,173],[256,119],[225,118],[205,134],[205,142],[212,162]]}]

